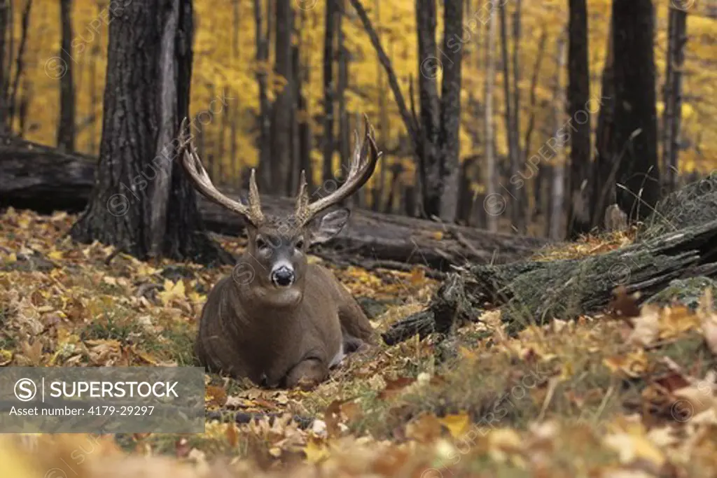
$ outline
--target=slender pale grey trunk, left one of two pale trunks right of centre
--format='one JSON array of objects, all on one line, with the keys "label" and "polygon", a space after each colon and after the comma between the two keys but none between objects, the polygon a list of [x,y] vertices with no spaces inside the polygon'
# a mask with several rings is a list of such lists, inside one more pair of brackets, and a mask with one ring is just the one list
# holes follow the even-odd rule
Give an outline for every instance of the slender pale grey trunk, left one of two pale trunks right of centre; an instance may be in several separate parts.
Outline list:
[{"label": "slender pale grey trunk, left one of two pale trunks right of centre", "polygon": [[[495,161],[494,135],[493,135],[493,81],[495,80],[495,9],[490,9],[488,17],[488,42],[485,44],[485,200],[481,206],[488,219],[488,231],[498,232],[498,216],[503,209],[493,206],[495,201],[503,204],[505,199],[496,192],[497,164]],[[499,200],[503,199],[503,202]]]}]

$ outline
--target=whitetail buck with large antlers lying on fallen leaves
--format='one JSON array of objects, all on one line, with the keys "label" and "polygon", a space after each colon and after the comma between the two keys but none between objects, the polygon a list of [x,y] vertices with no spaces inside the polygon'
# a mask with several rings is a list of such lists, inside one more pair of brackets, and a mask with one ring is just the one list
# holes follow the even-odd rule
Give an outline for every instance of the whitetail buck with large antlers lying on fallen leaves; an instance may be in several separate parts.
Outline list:
[{"label": "whitetail buck with large antlers lying on fallen leaves", "polygon": [[285,217],[262,213],[253,169],[248,204],[220,193],[185,131],[186,119],[180,142],[184,170],[207,199],[243,216],[249,236],[234,268],[243,269],[242,274],[224,277],[206,299],[194,348],[199,362],[211,371],[270,387],[325,381],[346,353],[375,343],[371,323],[356,300],[333,273],[306,260],[309,244],[338,234],[349,211],[337,209],[320,219],[318,214],[356,192],[374,173],[381,155],[368,118],[362,143],[354,133],[346,181],[310,203],[302,171],[295,212]]}]

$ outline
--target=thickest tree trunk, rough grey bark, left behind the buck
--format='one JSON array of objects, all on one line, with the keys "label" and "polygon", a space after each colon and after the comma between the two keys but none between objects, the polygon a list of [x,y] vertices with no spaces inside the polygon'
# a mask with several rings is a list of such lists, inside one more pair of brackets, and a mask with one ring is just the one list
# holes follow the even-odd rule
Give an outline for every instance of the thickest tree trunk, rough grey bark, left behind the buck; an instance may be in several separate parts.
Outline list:
[{"label": "thickest tree trunk, rough grey bark, left behind the buck", "polygon": [[110,21],[100,162],[90,203],[70,234],[141,259],[226,261],[203,232],[194,188],[176,158],[189,110],[191,0],[135,0],[111,10]]}]

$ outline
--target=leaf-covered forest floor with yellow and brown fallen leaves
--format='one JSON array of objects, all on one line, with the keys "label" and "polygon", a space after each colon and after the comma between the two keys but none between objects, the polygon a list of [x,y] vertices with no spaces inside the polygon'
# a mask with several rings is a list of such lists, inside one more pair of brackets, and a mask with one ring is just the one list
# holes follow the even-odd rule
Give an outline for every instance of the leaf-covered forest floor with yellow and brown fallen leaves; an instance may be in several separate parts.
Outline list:
[{"label": "leaf-covered forest floor with yellow and brown fallen leaves", "polygon": [[[74,219],[0,215],[0,365],[192,365],[206,293],[231,268],[148,264],[101,244],[73,244]],[[221,240],[229,251],[242,248],[239,239]],[[586,239],[536,259],[628,242]],[[437,286],[420,268],[334,271],[379,332],[420,310]],[[503,333],[498,314],[486,312],[442,343],[381,345],[313,391],[207,376],[207,408],[285,413],[272,424],[214,421],[204,434],[100,439],[2,435],[0,475],[717,476],[711,308],[554,320],[516,338]],[[317,420],[304,430],[292,415]]]}]

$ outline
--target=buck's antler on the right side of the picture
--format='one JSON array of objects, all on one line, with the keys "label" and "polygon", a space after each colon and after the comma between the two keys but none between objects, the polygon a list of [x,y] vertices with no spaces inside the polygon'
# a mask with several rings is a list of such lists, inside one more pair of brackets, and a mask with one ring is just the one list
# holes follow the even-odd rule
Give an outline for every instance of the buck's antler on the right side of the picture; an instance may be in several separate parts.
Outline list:
[{"label": "buck's antler on the right side of the picture", "polygon": [[[366,133],[364,140],[359,143],[359,132],[353,132],[353,155],[351,156],[351,165],[348,169],[348,177],[346,181],[333,193],[326,197],[310,203],[308,186],[306,185],[306,175],[301,171],[301,186],[296,199],[296,219],[301,225],[307,224],[317,214],[334,204],[346,199],[351,194],[364,186],[369,181],[371,174],[376,169],[376,163],[379,161],[381,153],[376,148],[374,141],[374,128],[369,123],[369,117],[364,115]],[[370,150],[370,154],[369,154]]]}]

